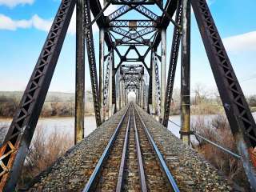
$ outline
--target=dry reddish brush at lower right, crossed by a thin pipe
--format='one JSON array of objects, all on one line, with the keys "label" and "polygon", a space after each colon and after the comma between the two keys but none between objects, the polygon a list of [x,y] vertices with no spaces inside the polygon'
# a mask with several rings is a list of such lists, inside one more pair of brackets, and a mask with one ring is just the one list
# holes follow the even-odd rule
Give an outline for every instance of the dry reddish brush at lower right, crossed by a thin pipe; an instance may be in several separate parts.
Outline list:
[{"label": "dry reddish brush at lower right, crossed by a thin pipe", "polygon": [[[210,139],[210,141],[238,154],[229,123],[224,115],[217,115],[207,124],[203,118],[198,118],[192,129],[203,137]],[[242,162],[238,158],[226,154],[200,138],[196,139],[197,142],[194,142],[194,146],[206,160],[211,162],[218,170],[221,170],[230,180],[247,189],[246,174],[242,168]]]}]

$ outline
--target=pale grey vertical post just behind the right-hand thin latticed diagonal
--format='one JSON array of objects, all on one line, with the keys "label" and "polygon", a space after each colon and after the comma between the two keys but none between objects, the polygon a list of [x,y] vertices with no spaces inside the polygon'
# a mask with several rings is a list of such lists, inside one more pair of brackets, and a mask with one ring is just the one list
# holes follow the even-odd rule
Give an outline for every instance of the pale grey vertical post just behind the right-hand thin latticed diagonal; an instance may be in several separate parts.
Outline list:
[{"label": "pale grey vertical post just behind the right-hand thin latticed diagonal", "polygon": [[166,29],[161,30],[161,103],[160,103],[160,122],[165,114],[166,98]]}]

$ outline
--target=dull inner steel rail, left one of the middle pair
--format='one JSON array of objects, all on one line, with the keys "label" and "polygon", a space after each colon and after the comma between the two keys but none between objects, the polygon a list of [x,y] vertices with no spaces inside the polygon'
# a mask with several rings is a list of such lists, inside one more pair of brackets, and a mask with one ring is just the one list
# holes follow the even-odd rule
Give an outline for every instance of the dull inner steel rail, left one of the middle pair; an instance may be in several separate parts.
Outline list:
[{"label": "dull inner steel rail, left one of the middle pair", "polygon": [[124,171],[126,168],[126,158],[127,158],[127,150],[128,150],[128,134],[130,132],[130,114],[126,126],[126,137],[125,141],[123,143],[122,147],[122,159],[120,163],[120,168],[119,168],[119,174],[118,174],[118,183],[116,186],[116,192],[121,192],[122,191],[122,186],[123,186],[123,180],[124,180]]}]

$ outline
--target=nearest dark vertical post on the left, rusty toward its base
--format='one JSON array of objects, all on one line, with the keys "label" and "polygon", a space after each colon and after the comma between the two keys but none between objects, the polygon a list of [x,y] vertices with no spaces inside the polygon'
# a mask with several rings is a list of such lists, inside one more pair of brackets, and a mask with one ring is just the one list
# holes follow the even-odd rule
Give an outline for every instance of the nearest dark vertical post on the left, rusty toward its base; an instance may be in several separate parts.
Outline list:
[{"label": "nearest dark vertical post on the left, rusty toward its base", "polygon": [[74,144],[84,138],[85,114],[85,36],[84,36],[84,0],[78,0],[76,32],[76,76],[75,76],[75,115]]}]

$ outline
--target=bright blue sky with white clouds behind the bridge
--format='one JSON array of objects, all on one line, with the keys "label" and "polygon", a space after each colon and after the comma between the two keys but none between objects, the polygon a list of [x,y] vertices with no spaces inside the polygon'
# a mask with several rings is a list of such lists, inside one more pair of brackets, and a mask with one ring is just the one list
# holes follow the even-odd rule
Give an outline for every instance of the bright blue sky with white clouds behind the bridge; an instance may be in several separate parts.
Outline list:
[{"label": "bright blue sky with white clouds behind the bridge", "polygon": [[[255,0],[209,0],[210,10],[222,37],[234,71],[244,94],[256,94],[256,16]],[[38,60],[47,31],[58,10],[60,0],[0,0],[0,90],[25,90]],[[106,10],[110,14],[116,6]],[[159,10],[153,8],[155,13]],[[132,15],[132,13],[130,13]],[[173,27],[167,30],[167,68]],[[98,27],[94,25],[94,45],[98,50]],[[98,52],[96,51],[98,62]],[[75,14],[50,91],[74,92],[75,79]],[[198,26],[191,21],[191,90],[198,84],[209,91],[217,90],[206,57]],[[175,87],[180,86],[178,62]],[[90,74],[86,62],[86,90],[90,90]]]}]

